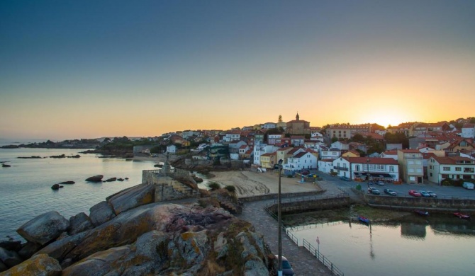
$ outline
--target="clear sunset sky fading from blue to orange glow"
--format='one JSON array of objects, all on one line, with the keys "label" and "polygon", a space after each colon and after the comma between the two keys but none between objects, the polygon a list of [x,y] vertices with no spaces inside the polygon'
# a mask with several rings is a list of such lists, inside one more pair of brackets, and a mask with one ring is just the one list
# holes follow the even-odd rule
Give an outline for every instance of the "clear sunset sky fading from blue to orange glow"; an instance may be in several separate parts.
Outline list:
[{"label": "clear sunset sky fading from blue to orange glow", "polygon": [[475,1],[0,1],[0,138],[475,116]]}]

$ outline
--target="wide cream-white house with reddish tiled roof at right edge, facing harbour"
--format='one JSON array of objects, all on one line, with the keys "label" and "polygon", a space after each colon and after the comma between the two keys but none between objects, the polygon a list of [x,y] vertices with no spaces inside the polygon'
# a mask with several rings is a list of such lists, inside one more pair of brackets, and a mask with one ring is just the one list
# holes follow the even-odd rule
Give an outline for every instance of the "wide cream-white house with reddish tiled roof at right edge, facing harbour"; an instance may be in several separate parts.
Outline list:
[{"label": "wide cream-white house with reddish tiled roof at right edge, facing harbour", "polygon": [[427,178],[433,183],[440,184],[447,178],[475,180],[475,161],[466,157],[432,156],[427,161],[427,166]]}]

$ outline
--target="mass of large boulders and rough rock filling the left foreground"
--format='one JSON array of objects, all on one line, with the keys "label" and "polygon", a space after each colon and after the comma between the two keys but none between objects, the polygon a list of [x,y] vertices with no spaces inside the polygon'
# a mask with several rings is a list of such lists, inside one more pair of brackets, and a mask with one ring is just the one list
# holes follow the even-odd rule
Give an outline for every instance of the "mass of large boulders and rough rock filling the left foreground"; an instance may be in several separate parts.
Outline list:
[{"label": "mass of large boulders and rough rock filling the left foreground", "polygon": [[[69,219],[47,212],[0,244],[0,275],[273,275],[254,227],[206,201],[155,202],[128,188]],[[211,201],[210,201],[211,202]]]}]

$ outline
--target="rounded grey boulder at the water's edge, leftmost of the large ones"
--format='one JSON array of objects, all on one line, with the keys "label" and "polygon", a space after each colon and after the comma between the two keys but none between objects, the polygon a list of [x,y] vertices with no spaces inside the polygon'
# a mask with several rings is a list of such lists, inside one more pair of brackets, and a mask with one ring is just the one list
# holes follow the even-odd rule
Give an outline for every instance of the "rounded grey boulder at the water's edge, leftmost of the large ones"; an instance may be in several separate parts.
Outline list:
[{"label": "rounded grey boulder at the water's edge, leftmost of the large ones", "polygon": [[44,245],[60,236],[67,227],[69,220],[56,211],[50,211],[26,222],[16,232],[27,241]]}]

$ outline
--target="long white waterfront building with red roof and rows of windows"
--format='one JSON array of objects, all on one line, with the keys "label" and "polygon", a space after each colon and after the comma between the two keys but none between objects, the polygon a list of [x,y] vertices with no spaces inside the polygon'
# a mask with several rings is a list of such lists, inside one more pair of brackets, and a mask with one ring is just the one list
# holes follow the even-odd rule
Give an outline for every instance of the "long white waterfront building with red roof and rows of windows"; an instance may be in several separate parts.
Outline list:
[{"label": "long white waterfront building with red roof and rows of windows", "polygon": [[333,160],[333,171],[354,180],[399,180],[398,161],[391,158],[340,157]]}]

